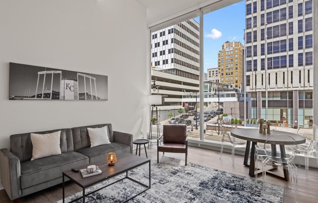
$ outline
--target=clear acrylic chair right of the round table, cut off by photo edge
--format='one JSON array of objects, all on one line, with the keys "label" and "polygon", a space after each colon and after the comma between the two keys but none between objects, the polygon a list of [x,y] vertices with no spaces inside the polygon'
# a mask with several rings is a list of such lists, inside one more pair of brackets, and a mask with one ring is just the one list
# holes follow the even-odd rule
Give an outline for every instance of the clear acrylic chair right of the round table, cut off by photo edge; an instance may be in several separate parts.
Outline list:
[{"label": "clear acrylic chair right of the round table, cut off by photo edge", "polygon": [[318,165],[318,126],[315,124],[301,125],[297,131],[298,135],[306,138],[304,144],[298,144],[298,151],[305,157],[305,173],[308,179],[309,156],[316,158]]}]

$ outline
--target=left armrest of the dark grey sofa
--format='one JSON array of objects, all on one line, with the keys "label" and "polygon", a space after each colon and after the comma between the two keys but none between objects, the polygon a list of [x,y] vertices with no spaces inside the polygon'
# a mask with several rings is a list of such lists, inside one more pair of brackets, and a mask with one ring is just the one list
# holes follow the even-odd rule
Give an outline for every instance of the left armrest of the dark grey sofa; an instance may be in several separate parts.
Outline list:
[{"label": "left armrest of the dark grey sofa", "polygon": [[18,199],[21,196],[20,160],[8,149],[0,150],[0,176],[10,200]]}]

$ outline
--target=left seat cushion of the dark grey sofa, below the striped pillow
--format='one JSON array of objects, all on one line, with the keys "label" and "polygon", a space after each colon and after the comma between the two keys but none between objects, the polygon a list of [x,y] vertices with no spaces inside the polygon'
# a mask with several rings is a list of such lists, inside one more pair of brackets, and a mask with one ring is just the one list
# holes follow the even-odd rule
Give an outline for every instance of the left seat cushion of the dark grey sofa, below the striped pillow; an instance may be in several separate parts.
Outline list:
[{"label": "left seat cushion of the dark grey sofa, below the striped pillow", "polygon": [[21,162],[21,188],[25,189],[62,176],[62,171],[88,164],[89,159],[78,152],[70,151]]}]

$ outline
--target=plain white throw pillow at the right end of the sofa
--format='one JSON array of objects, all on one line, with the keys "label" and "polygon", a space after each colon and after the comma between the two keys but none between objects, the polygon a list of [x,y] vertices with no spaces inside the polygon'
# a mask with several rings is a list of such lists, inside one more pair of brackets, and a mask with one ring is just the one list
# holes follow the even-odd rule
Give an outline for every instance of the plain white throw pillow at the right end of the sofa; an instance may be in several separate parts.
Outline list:
[{"label": "plain white throw pillow at the right end of the sofa", "polygon": [[87,128],[91,147],[110,144],[107,125],[102,128]]}]

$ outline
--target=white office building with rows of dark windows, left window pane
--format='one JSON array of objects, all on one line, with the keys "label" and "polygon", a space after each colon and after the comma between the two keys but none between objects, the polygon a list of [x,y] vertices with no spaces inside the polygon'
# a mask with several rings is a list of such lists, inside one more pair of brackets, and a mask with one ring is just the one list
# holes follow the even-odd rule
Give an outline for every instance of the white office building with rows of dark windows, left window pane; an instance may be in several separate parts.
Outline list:
[{"label": "white office building with rows of dark windows, left window pane", "polygon": [[162,108],[182,107],[182,95],[199,92],[199,23],[193,19],[153,32],[151,78],[164,95]]}]

